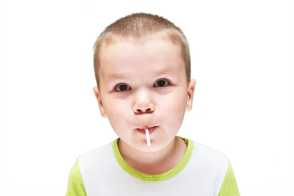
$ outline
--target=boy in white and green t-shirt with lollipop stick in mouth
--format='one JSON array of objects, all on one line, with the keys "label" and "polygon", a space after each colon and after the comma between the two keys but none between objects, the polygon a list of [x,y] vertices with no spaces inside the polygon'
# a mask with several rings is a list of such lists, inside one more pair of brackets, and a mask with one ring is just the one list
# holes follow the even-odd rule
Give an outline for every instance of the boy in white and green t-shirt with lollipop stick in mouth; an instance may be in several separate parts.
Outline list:
[{"label": "boy in white and green t-shirt with lollipop stick in mouth", "polygon": [[109,25],[94,49],[93,90],[119,138],[76,160],[66,195],[240,196],[224,154],[176,136],[196,86],[182,31],[132,14]]}]

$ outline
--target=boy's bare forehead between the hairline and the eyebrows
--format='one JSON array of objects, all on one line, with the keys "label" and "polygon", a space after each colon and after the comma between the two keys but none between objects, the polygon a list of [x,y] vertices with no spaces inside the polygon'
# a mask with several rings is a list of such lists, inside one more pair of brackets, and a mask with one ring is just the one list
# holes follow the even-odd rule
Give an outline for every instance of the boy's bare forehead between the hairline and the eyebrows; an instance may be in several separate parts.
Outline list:
[{"label": "boy's bare forehead between the hairline and the eyebrows", "polygon": [[185,70],[181,48],[163,39],[154,38],[144,43],[120,40],[103,45],[99,57],[100,77],[106,80],[114,74],[176,74]]}]

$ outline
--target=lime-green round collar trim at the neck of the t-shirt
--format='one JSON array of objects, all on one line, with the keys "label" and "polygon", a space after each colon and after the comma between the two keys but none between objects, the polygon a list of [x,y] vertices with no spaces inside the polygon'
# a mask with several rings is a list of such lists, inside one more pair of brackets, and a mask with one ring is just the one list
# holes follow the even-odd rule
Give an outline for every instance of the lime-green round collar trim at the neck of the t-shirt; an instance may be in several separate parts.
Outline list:
[{"label": "lime-green round collar trim at the neck of the t-shirt", "polygon": [[[178,136],[177,136],[178,137]],[[185,152],[184,157],[182,158],[182,160],[174,167],[172,168],[172,170],[165,172],[165,173],[161,173],[161,174],[156,174],[156,175],[149,175],[146,173],[142,173],[139,172],[135,169],[133,169],[132,167],[130,167],[123,159],[123,156],[119,150],[118,147],[118,141],[120,138],[117,138],[116,140],[114,140],[113,142],[113,150],[114,150],[114,155],[116,157],[116,160],[118,161],[119,165],[123,168],[123,170],[129,174],[131,174],[132,176],[147,181],[147,182],[160,182],[160,181],[164,181],[167,179],[172,178],[173,176],[175,176],[176,174],[178,174],[179,172],[181,172],[185,166],[187,165],[191,155],[192,155],[192,151],[193,151],[193,147],[194,147],[194,142],[190,139],[187,138],[182,138],[186,144],[188,144],[187,150]]]}]

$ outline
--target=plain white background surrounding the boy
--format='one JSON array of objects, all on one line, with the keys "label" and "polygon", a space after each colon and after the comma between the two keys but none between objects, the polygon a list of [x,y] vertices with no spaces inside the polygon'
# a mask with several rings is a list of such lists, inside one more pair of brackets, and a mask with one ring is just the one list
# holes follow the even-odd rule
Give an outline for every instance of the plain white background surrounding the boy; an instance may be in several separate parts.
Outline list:
[{"label": "plain white background surrounding the boy", "polygon": [[191,45],[193,109],[178,135],[229,158],[242,196],[294,196],[290,0],[1,1],[0,196],[64,196],[76,158],[117,135],[93,93],[93,44],[133,12]]}]

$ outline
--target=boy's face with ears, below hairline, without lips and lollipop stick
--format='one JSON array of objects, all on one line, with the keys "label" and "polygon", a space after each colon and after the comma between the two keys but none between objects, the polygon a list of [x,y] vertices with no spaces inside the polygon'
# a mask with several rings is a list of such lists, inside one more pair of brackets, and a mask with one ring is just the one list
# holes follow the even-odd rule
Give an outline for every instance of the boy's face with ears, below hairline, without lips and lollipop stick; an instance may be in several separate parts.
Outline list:
[{"label": "boy's face with ears, below hairline, without lips and lollipop stick", "polygon": [[[141,151],[166,147],[192,108],[195,80],[187,84],[181,49],[152,39],[145,44],[120,41],[100,52],[99,109],[124,143]],[[144,126],[157,126],[146,135]]]}]

